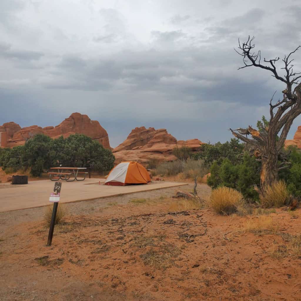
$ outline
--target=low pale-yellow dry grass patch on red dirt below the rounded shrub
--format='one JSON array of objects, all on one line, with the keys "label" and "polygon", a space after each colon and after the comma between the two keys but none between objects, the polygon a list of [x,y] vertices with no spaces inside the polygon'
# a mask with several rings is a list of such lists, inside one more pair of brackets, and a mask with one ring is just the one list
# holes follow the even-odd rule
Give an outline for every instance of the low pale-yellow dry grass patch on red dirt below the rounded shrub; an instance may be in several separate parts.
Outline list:
[{"label": "low pale-yellow dry grass patch on red dirt below the rounded shrub", "polygon": [[244,231],[254,234],[276,234],[279,226],[273,225],[273,219],[271,216],[259,216],[247,221]]}]

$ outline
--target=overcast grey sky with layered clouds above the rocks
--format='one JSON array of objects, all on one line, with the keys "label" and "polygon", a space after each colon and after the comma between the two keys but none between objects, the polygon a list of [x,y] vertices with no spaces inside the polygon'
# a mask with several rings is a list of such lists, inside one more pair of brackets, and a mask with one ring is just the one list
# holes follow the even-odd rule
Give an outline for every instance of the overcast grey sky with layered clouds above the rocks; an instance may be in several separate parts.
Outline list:
[{"label": "overcast grey sky with layered clouds above the rocks", "polygon": [[[113,147],[136,126],[224,142],[285,88],[265,70],[237,70],[238,38],[283,57],[301,43],[300,15],[299,0],[1,0],[0,124],[80,112]],[[294,58],[301,71],[301,51]]]}]

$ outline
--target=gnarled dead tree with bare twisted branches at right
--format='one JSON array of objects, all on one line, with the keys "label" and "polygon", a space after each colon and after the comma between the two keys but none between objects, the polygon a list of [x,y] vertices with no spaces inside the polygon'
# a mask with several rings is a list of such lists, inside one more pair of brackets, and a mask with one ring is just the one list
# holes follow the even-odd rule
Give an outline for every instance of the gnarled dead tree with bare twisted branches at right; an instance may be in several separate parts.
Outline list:
[{"label": "gnarled dead tree with bare twisted branches at right", "polygon": [[[278,165],[278,157],[284,147],[284,141],[293,123],[293,120],[301,113],[301,72],[296,73],[293,71],[293,59],[291,55],[294,54],[301,46],[298,46],[294,51],[282,59],[284,67],[284,76],[279,75],[279,70],[276,69],[276,62],[280,60],[279,57],[275,59],[266,60],[263,62],[261,53],[253,52],[255,45],[253,38],[248,38],[247,42],[241,44],[238,41],[238,49],[235,50],[243,57],[244,66],[246,67],[259,67],[264,70],[272,72],[272,76],[285,84],[285,89],[282,91],[283,99],[279,99],[275,104],[272,104],[273,97],[270,100],[270,120],[268,126],[262,126],[260,132],[248,126],[246,129],[238,128],[231,130],[232,134],[240,140],[252,145],[253,150],[256,150],[258,160],[261,161],[260,182],[261,189],[265,189],[278,179],[278,171],[287,168],[287,162]],[[266,64],[265,64],[266,63]],[[274,112],[275,110],[275,112]],[[251,138],[248,138],[251,135]],[[279,135],[279,139],[277,136]]]}]

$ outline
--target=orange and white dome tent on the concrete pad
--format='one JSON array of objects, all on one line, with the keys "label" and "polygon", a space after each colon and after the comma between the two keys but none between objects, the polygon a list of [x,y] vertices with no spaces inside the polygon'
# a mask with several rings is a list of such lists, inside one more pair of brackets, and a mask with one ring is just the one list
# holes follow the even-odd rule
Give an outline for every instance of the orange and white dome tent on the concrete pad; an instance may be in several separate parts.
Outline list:
[{"label": "orange and white dome tent on the concrete pad", "polygon": [[125,186],[131,184],[147,184],[151,177],[147,170],[137,162],[121,162],[109,173],[104,185]]}]

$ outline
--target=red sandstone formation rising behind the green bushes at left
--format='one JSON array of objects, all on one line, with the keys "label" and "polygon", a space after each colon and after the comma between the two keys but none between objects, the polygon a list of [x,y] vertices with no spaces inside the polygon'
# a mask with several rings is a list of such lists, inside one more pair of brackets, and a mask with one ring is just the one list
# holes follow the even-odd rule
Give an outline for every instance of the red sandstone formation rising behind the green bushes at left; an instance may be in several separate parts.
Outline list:
[{"label": "red sandstone formation rising behind the green bushes at left", "polygon": [[96,120],[91,120],[87,115],[73,113],[58,126],[29,126],[22,128],[14,123],[8,122],[0,126],[0,132],[8,133],[8,147],[23,145],[25,141],[35,134],[44,134],[51,138],[64,138],[72,134],[84,134],[94,140],[98,140],[105,148],[111,149],[107,131]]}]

